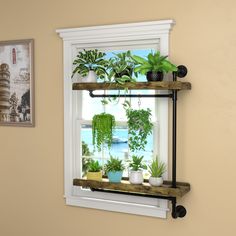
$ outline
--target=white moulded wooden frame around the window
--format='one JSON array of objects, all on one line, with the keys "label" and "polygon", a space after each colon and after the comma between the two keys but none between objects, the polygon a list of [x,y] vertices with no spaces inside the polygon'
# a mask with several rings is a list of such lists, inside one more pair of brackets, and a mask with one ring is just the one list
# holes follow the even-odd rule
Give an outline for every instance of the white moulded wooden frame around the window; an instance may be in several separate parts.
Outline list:
[{"label": "white moulded wooden frame around the window", "polygon": [[[169,33],[173,25],[173,20],[162,20],[56,30],[63,39],[64,52],[64,197],[67,205],[166,218],[167,200],[95,193],[73,186],[73,179],[80,174],[76,114],[81,101],[80,93],[72,91],[70,78],[75,48],[106,47],[109,50],[114,46],[125,49],[131,45],[137,48],[159,45],[161,54],[169,55]],[[161,98],[158,104],[157,118],[161,124],[158,153],[168,164],[168,98]]]}]

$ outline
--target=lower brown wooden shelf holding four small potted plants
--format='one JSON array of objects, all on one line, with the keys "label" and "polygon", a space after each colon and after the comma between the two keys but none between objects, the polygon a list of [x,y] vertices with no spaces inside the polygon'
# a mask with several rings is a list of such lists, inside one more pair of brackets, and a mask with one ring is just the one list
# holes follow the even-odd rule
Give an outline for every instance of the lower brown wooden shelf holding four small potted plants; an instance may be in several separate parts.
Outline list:
[{"label": "lower brown wooden shelf holding four small potted plants", "polygon": [[170,181],[164,181],[160,187],[153,187],[149,183],[143,184],[130,184],[127,180],[122,180],[121,183],[110,183],[108,179],[102,181],[87,180],[87,179],[74,179],[74,186],[81,186],[91,189],[111,190],[124,193],[138,193],[140,195],[153,195],[161,197],[182,197],[190,191],[190,184],[177,182],[177,187],[172,188]]}]

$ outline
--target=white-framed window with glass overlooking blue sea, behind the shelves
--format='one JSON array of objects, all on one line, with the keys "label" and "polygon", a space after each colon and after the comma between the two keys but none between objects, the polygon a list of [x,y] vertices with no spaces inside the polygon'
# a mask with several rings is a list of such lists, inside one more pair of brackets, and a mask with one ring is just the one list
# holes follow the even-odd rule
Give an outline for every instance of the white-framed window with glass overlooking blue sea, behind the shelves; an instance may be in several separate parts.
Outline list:
[{"label": "white-framed window with glass overlooking blue sea, behind the shelves", "polygon": [[[123,25],[97,26],[78,29],[57,30],[64,41],[64,158],[65,158],[65,198],[68,205],[90,207],[132,214],[166,217],[167,201],[156,198],[127,196],[122,194],[91,192],[73,186],[73,179],[82,176],[82,145],[85,143],[92,151],[91,119],[94,114],[109,110],[116,116],[116,138],[121,143],[112,145],[111,152],[120,158],[127,158],[128,145],[125,113],[122,98],[114,108],[103,106],[100,99],[90,98],[87,91],[72,91],[72,62],[82,49],[97,48],[111,56],[112,53],[131,50],[134,54],[145,55],[150,50],[160,50],[168,54],[169,30],[172,20],[144,22]],[[140,77],[140,80],[144,78]],[[110,91],[109,91],[110,92]],[[139,91],[140,92],[140,91]],[[150,92],[150,91],[146,91]],[[138,93],[138,91],[132,91]],[[132,107],[138,108],[138,99],[132,98]],[[158,154],[168,161],[168,100],[167,98],[143,98],[142,108],[152,109],[154,132],[148,139],[145,156]],[[119,107],[119,113],[117,112]],[[123,112],[122,112],[123,111]],[[124,141],[122,143],[122,140]],[[94,152],[94,158],[104,162],[107,150]],[[84,157],[85,158],[85,157]],[[148,161],[148,158],[147,160]]]}]

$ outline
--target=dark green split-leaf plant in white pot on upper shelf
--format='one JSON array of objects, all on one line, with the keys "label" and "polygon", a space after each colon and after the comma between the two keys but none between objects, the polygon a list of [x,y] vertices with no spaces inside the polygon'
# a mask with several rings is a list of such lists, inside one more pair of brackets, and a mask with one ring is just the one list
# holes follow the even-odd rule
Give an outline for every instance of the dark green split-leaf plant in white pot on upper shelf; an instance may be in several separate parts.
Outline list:
[{"label": "dark green split-leaf plant in white pot on upper shelf", "polygon": [[108,61],[104,58],[105,53],[94,50],[83,50],[78,53],[73,62],[75,68],[72,77],[78,73],[83,77],[82,82],[96,82],[97,77],[105,80]]}]

